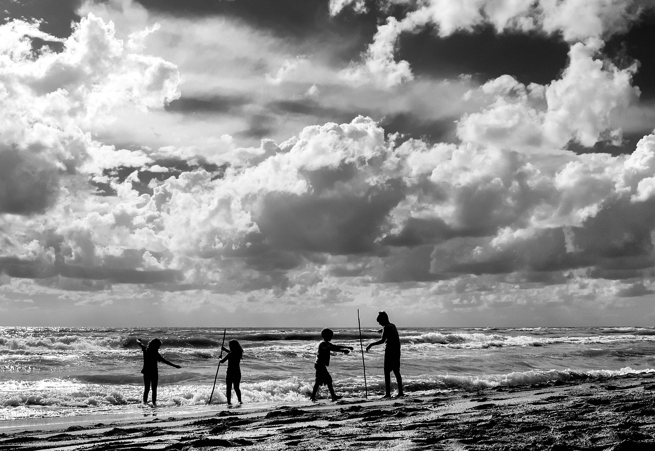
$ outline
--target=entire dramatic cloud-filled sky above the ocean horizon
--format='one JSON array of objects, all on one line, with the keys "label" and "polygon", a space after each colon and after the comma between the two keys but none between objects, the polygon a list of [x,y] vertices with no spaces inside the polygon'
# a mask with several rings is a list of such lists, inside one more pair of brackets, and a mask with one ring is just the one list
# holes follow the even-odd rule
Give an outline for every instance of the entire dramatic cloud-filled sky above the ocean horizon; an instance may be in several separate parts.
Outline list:
[{"label": "entire dramatic cloud-filled sky above the ocean horizon", "polygon": [[652,325],[654,0],[1,0],[0,325]]}]

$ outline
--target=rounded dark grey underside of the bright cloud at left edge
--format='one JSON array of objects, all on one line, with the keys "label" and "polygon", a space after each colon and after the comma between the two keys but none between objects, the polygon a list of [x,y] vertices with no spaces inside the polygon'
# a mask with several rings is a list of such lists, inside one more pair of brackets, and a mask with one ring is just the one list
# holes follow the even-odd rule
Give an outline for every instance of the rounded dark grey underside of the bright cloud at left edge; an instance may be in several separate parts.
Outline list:
[{"label": "rounded dark grey underside of the bright cloud at left edge", "polygon": [[59,170],[38,153],[0,147],[0,213],[30,215],[57,198]]}]

